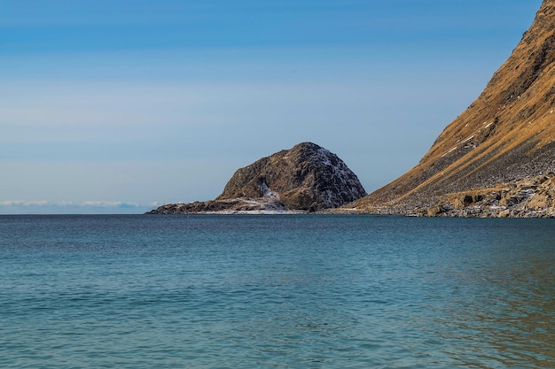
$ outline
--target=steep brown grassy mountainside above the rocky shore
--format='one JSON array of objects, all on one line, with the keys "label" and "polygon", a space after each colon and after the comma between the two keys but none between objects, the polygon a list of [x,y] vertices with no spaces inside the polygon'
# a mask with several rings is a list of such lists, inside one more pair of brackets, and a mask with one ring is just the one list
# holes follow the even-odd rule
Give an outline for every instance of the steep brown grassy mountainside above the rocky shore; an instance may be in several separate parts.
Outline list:
[{"label": "steep brown grassy mountainside above the rocky shore", "polygon": [[358,208],[426,206],[439,196],[555,171],[555,0],[418,165]]}]

